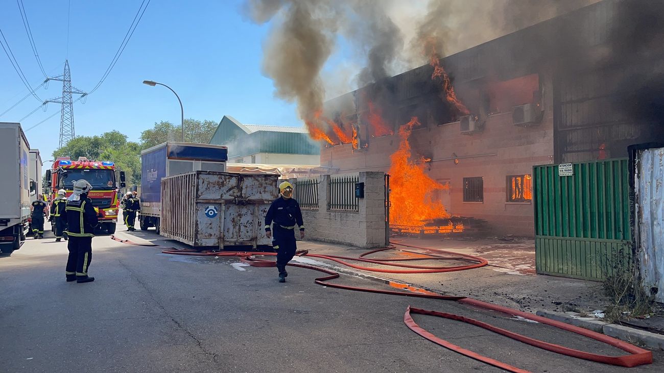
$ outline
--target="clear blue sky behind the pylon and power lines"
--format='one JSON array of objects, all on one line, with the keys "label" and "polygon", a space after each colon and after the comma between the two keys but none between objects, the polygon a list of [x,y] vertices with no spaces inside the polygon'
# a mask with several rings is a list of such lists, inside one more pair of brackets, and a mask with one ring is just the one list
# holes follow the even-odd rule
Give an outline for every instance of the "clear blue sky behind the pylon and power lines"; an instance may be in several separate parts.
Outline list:
[{"label": "clear blue sky behind the pylon and power lines", "polygon": [[[41,57],[50,76],[62,74],[68,58],[72,85],[89,91],[110,64],[140,1],[71,0],[67,48],[67,0],[23,0]],[[0,28],[30,84],[44,80],[33,56],[19,7],[14,0],[0,2]],[[155,80],[171,86],[180,96],[185,117],[219,121],[231,115],[243,123],[301,125],[294,104],[274,97],[272,80],[262,75],[262,42],[269,25],[256,25],[242,13],[241,0],[151,1],[141,23],[104,84],[74,104],[76,135],[95,135],[118,129],[137,140],[155,121],[179,123],[175,96],[161,86],[141,84]],[[68,49],[68,52],[67,52]],[[29,91],[0,50],[0,113]],[[42,100],[58,98],[62,84],[50,82],[36,93]],[[0,117],[18,121],[41,102],[27,98]],[[48,104],[21,122],[32,127],[52,113]],[[32,147],[44,161],[58,145],[60,115],[27,131]]]}]

